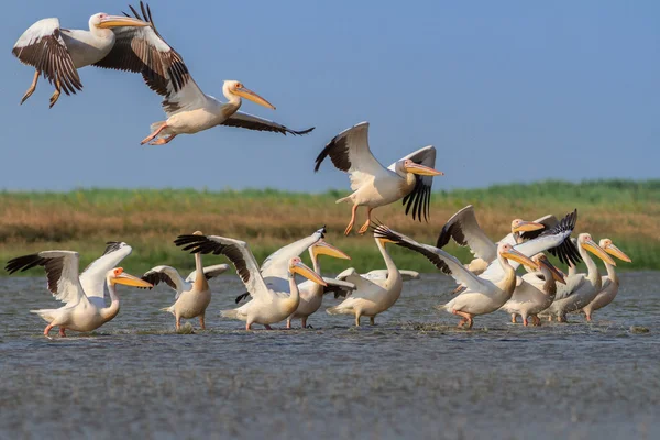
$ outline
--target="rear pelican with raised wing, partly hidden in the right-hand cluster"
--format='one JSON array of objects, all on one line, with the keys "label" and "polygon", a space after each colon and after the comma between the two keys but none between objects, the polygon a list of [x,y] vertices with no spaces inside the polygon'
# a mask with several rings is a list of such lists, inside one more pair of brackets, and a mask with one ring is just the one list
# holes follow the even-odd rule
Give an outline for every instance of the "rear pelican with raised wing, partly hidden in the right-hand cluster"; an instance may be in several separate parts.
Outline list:
[{"label": "rear pelican with raised wing, partly hidden in the right-hand cluster", "polygon": [[[544,221],[544,223],[541,221]],[[554,216],[546,216],[535,221],[515,219],[512,221],[512,233],[499,242],[515,245],[525,240],[538,237],[543,230],[552,228],[556,223],[557,219]],[[531,232],[535,233],[531,234]],[[497,244],[493,243],[479,226],[472,205],[468,205],[454,213],[444,223],[438,237],[436,248],[444,248],[449,243],[449,239],[453,239],[460,246],[470,246],[470,252],[475,257],[466,264],[466,267],[475,275],[483,273],[488,267],[488,264],[497,258]]]}]

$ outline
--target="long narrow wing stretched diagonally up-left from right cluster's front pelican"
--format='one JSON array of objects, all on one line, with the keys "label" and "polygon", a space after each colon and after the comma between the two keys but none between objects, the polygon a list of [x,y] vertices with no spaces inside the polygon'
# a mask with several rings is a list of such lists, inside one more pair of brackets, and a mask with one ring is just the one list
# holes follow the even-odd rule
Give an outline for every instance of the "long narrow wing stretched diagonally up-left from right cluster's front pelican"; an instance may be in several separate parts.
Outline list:
[{"label": "long narrow wing stretched diagonally up-left from right cluster's front pelican", "polygon": [[378,226],[374,230],[374,237],[387,239],[394,244],[422,254],[444,274],[451,275],[457,283],[466,286],[471,290],[483,292],[483,289],[486,288],[483,279],[466,270],[453,255],[448,254],[441,249],[418,243],[402,233],[393,231],[384,224]]}]

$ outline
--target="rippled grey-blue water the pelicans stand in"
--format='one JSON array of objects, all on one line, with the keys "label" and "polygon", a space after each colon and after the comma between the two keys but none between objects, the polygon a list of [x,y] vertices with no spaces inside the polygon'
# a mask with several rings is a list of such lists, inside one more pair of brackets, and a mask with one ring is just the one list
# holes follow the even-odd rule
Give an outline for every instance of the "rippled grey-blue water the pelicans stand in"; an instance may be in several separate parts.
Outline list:
[{"label": "rippled grey-blue water the pelicans stand in", "polygon": [[314,330],[245,332],[217,317],[243,292],[223,276],[209,330],[176,334],[170,290],[119,286],[113,321],[52,341],[28,312],[56,305],[44,285],[0,278],[0,438],[660,438],[660,273],[622,275],[593,324],[496,312],[472,331],[433,308],[442,275],[360,329],[321,311]]}]

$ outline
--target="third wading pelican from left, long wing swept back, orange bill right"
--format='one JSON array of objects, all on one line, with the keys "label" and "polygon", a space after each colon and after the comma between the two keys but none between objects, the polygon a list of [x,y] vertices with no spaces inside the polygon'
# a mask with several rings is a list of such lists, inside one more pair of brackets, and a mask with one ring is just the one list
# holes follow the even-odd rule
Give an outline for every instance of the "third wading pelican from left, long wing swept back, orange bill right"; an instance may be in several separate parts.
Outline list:
[{"label": "third wading pelican from left, long wing swept back, orange bill right", "polygon": [[231,261],[252,300],[237,309],[223,310],[221,315],[224,318],[245,321],[245,330],[250,330],[253,323],[263,324],[271,330],[272,323],[283,321],[296,311],[300,295],[295,274],[326,285],[319,274],[302,264],[302,261],[296,256],[288,262],[288,288],[286,290],[270,288],[260,273],[258,264],[248,243],[243,241],[218,235],[179,235],[175,244],[184,246],[184,251],[222,254]]}]

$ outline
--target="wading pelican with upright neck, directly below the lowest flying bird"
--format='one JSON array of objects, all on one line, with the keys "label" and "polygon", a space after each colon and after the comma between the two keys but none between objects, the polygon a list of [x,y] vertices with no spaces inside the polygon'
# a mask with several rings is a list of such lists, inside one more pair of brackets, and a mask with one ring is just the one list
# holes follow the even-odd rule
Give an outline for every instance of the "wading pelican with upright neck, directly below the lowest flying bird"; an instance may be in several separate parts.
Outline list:
[{"label": "wading pelican with upright neck, directly below the lowest flying bird", "polygon": [[380,237],[378,229],[374,231],[374,240],[385,261],[387,277],[371,280],[362,277],[354,268],[349,270],[348,273],[344,272],[345,277],[343,279],[354,284],[355,289],[340,305],[326,310],[329,315],[353,315],[355,327],[360,327],[360,318],[363,316],[369,317],[370,323],[374,326],[376,315],[394,306],[404,287],[402,274],[385,249],[385,243],[389,240]]}]

